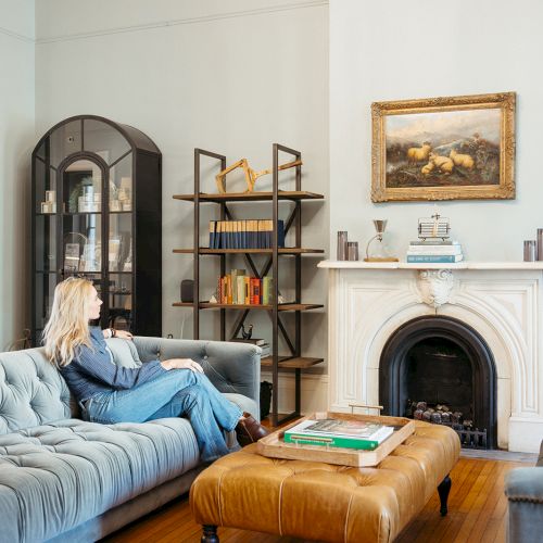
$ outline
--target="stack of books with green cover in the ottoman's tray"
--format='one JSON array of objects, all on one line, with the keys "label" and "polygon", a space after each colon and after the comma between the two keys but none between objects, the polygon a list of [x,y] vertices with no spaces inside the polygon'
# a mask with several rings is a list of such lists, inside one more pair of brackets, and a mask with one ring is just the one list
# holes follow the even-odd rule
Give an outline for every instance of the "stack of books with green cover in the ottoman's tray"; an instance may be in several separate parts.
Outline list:
[{"label": "stack of books with green cover in the ottoman's tray", "polygon": [[283,439],[286,443],[372,451],[393,431],[392,426],[365,422],[363,420],[307,419],[285,430]]}]

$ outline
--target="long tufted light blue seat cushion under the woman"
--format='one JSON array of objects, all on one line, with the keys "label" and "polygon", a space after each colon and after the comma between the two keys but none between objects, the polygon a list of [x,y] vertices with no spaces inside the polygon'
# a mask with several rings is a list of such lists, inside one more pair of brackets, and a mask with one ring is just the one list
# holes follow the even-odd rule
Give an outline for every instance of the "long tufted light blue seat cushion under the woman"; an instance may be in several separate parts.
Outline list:
[{"label": "long tufted light blue seat cushion under the woman", "polygon": [[43,541],[199,464],[190,424],[67,419],[0,435],[0,542]]}]

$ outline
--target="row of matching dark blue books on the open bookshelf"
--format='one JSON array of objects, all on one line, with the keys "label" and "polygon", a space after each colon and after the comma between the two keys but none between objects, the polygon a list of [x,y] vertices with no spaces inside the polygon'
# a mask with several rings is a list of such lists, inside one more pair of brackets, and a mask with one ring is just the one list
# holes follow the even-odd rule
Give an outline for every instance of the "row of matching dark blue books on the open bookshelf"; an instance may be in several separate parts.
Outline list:
[{"label": "row of matching dark blue books on the open bookshelf", "polygon": [[[210,249],[272,249],[272,219],[210,220]],[[285,247],[285,222],[277,222],[277,247]]]}]

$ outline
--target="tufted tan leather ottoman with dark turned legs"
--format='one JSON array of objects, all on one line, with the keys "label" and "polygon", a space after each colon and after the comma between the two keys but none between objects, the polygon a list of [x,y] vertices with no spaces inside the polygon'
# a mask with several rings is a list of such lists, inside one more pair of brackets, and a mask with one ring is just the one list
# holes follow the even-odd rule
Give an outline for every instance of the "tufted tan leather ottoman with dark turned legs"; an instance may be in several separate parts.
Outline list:
[{"label": "tufted tan leather ottoman with dark turned legs", "polygon": [[218,542],[217,526],[296,538],[390,542],[439,487],[446,514],[449,472],[460,444],[444,426],[418,422],[415,433],[378,466],[279,460],[256,445],[229,454],[202,471],[190,489],[202,541]]}]

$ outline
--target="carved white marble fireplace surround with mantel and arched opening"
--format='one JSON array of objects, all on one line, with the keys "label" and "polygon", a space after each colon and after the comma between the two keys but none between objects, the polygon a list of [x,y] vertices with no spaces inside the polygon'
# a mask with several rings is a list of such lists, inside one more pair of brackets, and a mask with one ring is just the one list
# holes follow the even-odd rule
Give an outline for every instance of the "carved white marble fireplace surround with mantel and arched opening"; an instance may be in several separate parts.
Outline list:
[{"label": "carved white marble fireplace surround with mantel and arched opening", "polygon": [[329,272],[328,408],[379,403],[387,340],[425,315],[476,330],[497,377],[497,446],[538,452],[543,439],[543,262],[440,264],[325,261]]}]

